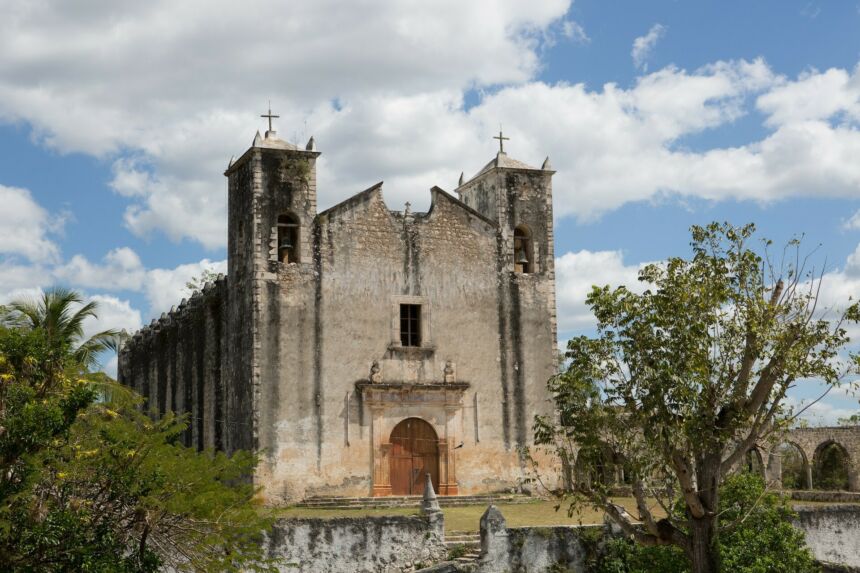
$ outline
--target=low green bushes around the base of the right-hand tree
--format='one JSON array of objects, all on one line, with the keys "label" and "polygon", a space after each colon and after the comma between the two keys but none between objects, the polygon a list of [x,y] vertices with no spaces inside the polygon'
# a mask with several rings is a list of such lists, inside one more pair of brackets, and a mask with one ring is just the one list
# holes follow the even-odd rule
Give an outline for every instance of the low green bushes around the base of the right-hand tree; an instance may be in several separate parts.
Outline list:
[{"label": "low green bushes around the base of the right-hand tree", "polygon": [[[758,475],[729,476],[720,488],[724,516],[735,525],[718,540],[722,567],[732,573],[813,573],[819,571],[803,533],[790,520],[786,498],[768,492]],[[683,502],[676,504],[684,511]],[[675,546],[645,546],[614,539],[604,547],[595,573],[687,573],[690,562]]]}]

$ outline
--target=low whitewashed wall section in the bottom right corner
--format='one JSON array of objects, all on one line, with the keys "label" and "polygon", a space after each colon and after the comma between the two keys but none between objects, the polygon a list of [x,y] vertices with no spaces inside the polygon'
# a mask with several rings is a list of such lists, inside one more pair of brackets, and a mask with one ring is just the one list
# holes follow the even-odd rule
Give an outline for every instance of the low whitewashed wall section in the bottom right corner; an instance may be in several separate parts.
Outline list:
[{"label": "low whitewashed wall section in the bottom right corner", "polygon": [[860,506],[801,505],[794,509],[794,526],[803,531],[815,559],[860,569]]}]

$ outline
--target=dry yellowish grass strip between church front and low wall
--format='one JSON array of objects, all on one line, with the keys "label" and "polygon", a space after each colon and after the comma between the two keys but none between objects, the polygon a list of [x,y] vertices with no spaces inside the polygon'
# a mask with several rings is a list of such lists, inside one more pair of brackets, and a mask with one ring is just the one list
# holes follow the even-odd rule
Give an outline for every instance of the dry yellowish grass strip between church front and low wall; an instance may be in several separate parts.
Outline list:
[{"label": "dry yellowish grass strip between church front and low wall", "polygon": [[[633,498],[616,498],[616,503],[623,505],[631,514],[635,514],[635,502]],[[502,515],[507,519],[509,527],[523,526],[546,526],[546,525],[589,525],[603,523],[603,512],[592,508],[581,508],[571,517],[567,516],[567,508],[555,509],[554,501],[537,500],[529,503],[497,505]],[[446,507],[442,509],[445,514],[445,530],[448,533],[454,531],[478,531],[481,515],[486,511],[486,505],[470,505],[464,507]],[[362,517],[372,515],[415,515],[418,508],[396,507],[375,509],[309,509],[291,507],[276,510],[278,517]]]}]

